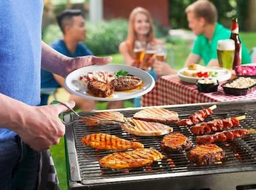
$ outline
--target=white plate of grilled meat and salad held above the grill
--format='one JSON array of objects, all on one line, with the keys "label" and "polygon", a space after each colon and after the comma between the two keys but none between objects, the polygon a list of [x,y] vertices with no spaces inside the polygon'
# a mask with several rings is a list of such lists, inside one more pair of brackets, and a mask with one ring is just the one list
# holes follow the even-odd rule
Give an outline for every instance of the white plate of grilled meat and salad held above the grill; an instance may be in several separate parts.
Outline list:
[{"label": "white plate of grilled meat and salad held above the grill", "polygon": [[67,75],[65,86],[72,94],[85,99],[116,101],[148,93],[154,88],[154,79],[134,66],[91,65]]}]

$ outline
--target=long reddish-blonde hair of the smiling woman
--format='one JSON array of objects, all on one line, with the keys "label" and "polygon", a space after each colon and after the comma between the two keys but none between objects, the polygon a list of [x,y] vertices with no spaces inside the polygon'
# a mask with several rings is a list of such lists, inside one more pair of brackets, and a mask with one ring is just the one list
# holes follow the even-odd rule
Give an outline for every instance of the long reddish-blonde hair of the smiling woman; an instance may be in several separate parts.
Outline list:
[{"label": "long reddish-blonde hair of the smiling woman", "polygon": [[138,15],[138,13],[142,13],[146,15],[146,17],[148,18],[148,22],[150,24],[146,42],[152,42],[154,40],[153,22],[152,22],[151,14],[148,12],[147,9],[144,9],[142,7],[136,7],[129,14],[129,28],[128,28],[127,43],[129,44],[131,50],[133,50],[133,47],[135,45],[135,40],[136,40],[134,23],[135,23],[135,17],[136,15]]}]

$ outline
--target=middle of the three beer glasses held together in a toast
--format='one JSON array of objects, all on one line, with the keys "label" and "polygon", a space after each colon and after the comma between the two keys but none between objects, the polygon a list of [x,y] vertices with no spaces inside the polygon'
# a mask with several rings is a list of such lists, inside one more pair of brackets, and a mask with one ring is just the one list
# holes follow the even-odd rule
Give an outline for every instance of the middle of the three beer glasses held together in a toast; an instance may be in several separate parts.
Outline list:
[{"label": "middle of the three beer glasses held together in a toast", "polygon": [[153,43],[148,43],[146,45],[145,56],[143,58],[143,70],[151,70],[154,58],[156,58],[157,47]]}]

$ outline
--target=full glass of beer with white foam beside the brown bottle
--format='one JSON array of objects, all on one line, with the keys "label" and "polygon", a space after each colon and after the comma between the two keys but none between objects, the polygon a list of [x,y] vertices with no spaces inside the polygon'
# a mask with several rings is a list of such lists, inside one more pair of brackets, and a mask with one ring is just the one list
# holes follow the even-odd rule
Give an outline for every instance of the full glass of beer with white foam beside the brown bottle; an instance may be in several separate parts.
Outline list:
[{"label": "full glass of beer with white foam beside the brown bottle", "polygon": [[221,39],[218,41],[217,54],[219,66],[232,70],[235,56],[235,42],[233,39]]}]

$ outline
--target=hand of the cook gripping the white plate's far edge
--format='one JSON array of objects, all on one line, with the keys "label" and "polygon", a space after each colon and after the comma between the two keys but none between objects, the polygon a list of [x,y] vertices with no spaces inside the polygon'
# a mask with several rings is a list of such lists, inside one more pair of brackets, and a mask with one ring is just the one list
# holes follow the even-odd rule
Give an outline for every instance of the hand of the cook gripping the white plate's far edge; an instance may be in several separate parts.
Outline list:
[{"label": "hand of the cook gripping the white plate's far edge", "polygon": [[112,57],[96,57],[96,56],[82,56],[76,58],[69,58],[67,59],[67,67],[62,77],[66,77],[70,72],[74,71],[75,69],[79,69],[84,66],[89,66],[93,64],[97,65],[104,65],[109,64],[112,61]]}]

